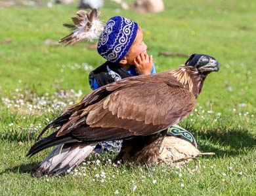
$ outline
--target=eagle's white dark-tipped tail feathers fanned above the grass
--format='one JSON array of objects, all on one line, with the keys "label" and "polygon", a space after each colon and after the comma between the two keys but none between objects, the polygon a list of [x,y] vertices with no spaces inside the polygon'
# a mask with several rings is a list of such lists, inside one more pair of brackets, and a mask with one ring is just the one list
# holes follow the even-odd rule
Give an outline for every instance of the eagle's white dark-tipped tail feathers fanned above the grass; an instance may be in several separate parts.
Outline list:
[{"label": "eagle's white dark-tipped tail feathers fanned above the grass", "polygon": [[38,178],[43,175],[66,174],[82,163],[91,154],[95,145],[81,142],[60,144],[33,170],[33,174]]}]

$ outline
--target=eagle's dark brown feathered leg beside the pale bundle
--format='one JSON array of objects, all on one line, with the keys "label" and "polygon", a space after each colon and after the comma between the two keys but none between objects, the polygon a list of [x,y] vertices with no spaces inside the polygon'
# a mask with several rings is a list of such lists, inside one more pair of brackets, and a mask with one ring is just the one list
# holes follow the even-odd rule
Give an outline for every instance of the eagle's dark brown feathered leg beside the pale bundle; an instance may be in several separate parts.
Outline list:
[{"label": "eagle's dark brown feathered leg beside the pale bundle", "polygon": [[156,163],[166,133],[167,129],[154,135],[137,136],[123,140],[123,146],[117,159],[133,165]]}]

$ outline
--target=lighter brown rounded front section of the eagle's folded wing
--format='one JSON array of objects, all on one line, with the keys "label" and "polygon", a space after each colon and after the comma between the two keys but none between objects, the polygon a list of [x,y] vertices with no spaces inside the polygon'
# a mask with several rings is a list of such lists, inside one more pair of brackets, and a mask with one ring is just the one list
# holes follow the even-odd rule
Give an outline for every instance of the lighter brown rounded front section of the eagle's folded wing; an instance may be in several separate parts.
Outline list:
[{"label": "lighter brown rounded front section of the eagle's folded wing", "polygon": [[[134,93],[136,91],[140,93]],[[89,112],[87,125],[119,127],[135,135],[153,134],[173,125],[192,112],[196,105],[196,99],[189,91],[158,83],[114,91],[102,102]]]}]

